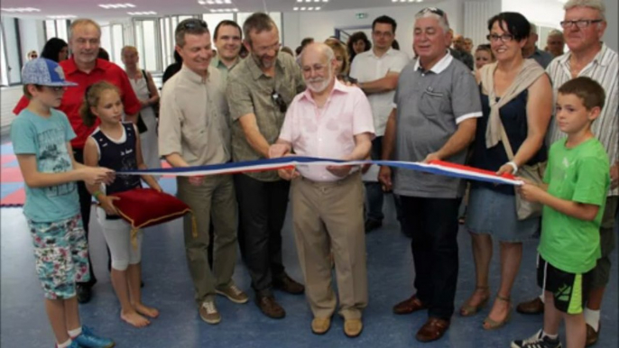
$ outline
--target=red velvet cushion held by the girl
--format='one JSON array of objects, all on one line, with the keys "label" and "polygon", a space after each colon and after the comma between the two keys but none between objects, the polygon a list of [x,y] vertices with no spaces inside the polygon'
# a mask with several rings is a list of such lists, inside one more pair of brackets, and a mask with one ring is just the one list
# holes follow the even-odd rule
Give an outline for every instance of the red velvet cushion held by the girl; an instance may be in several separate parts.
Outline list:
[{"label": "red velvet cushion held by the girl", "polygon": [[114,206],[134,230],[163,224],[191,211],[179,198],[153,188],[134,188],[110,196],[120,198]]}]

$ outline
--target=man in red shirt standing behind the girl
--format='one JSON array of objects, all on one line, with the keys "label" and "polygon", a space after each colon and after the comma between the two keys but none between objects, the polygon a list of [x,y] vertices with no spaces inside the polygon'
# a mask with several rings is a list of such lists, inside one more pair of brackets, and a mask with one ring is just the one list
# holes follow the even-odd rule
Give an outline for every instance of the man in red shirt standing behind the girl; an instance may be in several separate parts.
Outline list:
[{"label": "man in red shirt standing behind the girl", "polygon": [[[84,144],[88,136],[93,133],[99,124],[97,118],[95,124],[88,127],[82,122],[81,115],[79,114],[79,108],[84,102],[87,87],[99,81],[107,81],[118,87],[123,99],[123,105],[125,106],[125,119],[128,121],[137,121],[137,114],[142,109],[142,105],[135,96],[134,89],[131,87],[125,70],[109,61],[97,59],[101,41],[101,28],[96,22],[90,19],[75,20],[71,23],[69,35],[69,48],[72,55],[69,60],[62,60],[60,67],[64,71],[67,81],[77,83],[78,86],[67,89],[58,109],[67,114],[69,123],[77,134],[77,137],[71,141],[71,146],[73,147],[75,160],[83,162]],[[28,99],[22,98],[19,104],[15,106],[13,112],[19,114],[27,105]],[[88,239],[88,223],[90,221],[92,197],[83,182],[78,182],[78,193],[80,213]],[[91,288],[97,282],[92,269],[92,262],[88,260],[88,263],[90,264],[90,281],[77,284],[79,303],[86,303],[90,300]]]}]

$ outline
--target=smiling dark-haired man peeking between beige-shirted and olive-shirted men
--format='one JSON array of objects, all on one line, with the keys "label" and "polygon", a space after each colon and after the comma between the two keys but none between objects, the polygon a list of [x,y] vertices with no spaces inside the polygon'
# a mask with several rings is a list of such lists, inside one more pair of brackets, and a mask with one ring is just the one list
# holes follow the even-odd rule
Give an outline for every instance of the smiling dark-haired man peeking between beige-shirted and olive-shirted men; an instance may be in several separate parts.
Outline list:
[{"label": "smiling dark-haired man peeking between beige-shirted and olive-shirted men", "polygon": [[224,83],[226,83],[228,72],[241,60],[238,54],[241,51],[242,36],[241,27],[229,20],[219,22],[213,32],[217,57],[210,61],[210,65],[219,69]]}]

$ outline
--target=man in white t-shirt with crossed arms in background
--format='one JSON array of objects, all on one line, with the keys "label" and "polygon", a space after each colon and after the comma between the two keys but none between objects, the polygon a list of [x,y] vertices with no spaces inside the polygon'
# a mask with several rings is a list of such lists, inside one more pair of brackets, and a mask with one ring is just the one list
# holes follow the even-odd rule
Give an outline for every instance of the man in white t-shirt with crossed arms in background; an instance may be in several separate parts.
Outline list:
[{"label": "man in white t-shirt with crossed arms in background", "polygon": [[[392,110],[398,76],[410,61],[406,53],[392,49],[396,27],[397,23],[391,17],[383,15],[376,18],[372,23],[372,50],[357,54],[350,68],[350,77],[356,78],[372,105],[376,131],[372,142],[373,160],[381,157],[384,127]],[[383,189],[378,182],[368,182],[365,192],[365,232],[370,232],[383,224]]]}]

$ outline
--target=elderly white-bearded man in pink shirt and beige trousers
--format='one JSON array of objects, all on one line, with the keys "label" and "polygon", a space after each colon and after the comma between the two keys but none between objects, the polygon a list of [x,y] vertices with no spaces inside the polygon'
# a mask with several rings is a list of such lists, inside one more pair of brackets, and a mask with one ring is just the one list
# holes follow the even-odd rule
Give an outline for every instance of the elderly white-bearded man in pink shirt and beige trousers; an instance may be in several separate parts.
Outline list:
[{"label": "elderly white-bearded man in pink shirt and beige trousers", "polygon": [[[307,85],[296,96],[283,122],[270,157],[291,152],[300,156],[338,160],[367,158],[374,138],[372,109],[357,87],[337,81],[335,54],[324,43],[303,50],[301,70]],[[344,333],[361,334],[362,311],[367,306],[365,268],[364,193],[356,166],[298,166],[280,169],[291,180],[294,234],[306,295],[314,319],[311,330],[325,334],[337,299],[331,286],[333,251],[339,315]]]}]

